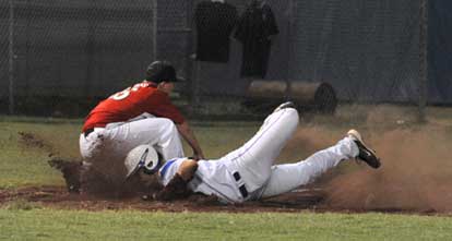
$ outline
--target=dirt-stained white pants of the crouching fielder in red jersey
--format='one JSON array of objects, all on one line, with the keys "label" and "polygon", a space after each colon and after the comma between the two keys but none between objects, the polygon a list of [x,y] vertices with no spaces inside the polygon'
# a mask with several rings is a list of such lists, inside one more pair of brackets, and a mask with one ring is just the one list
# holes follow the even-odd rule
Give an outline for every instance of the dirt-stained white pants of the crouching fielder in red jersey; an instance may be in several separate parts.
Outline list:
[{"label": "dirt-stained white pants of the crouching fielder in red jersey", "polygon": [[[165,160],[183,157],[175,123],[166,118],[145,118],[95,129],[80,135],[80,152],[85,162],[102,167],[123,166],[127,154],[141,144],[153,145]],[[118,168],[110,168],[116,169]],[[108,172],[108,170],[102,172]],[[106,173],[107,174],[107,173]]]}]

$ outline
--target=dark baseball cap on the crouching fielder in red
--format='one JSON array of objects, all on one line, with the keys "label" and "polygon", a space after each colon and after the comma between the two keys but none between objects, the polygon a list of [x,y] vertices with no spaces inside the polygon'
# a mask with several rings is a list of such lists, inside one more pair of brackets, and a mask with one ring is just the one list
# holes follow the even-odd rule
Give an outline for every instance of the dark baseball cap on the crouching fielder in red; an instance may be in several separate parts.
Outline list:
[{"label": "dark baseball cap on the crouching fielder in red", "polygon": [[183,77],[176,75],[176,69],[168,61],[154,61],[146,70],[146,80],[154,83],[160,82],[179,82]]}]

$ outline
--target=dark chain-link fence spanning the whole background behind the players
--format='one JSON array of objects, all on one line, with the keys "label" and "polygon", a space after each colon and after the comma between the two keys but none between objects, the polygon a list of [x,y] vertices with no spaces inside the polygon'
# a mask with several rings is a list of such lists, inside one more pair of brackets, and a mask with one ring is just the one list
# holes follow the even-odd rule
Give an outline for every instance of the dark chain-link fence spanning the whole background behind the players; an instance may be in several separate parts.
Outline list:
[{"label": "dark chain-link fence spanning the whole background behind the players", "polygon": [[[142,80],[155,59],[171,61],[189,80],[180,92],[200,111],[249,100],[257,82],[258,103],[304,93],[311,99],[300,101],[323,96],[329,105],[448,104],[450,85],[438,94],[436,80],[426,84],[426,50],[437,50],[423,31],[444,14],[436,4],[449,4],[426,2],[3,0],[1,108],[11,112],[36,96],[103,98]],[[266,82],[281,89],[265,91]],[[333,94],[312,83],[328,83]]]}]

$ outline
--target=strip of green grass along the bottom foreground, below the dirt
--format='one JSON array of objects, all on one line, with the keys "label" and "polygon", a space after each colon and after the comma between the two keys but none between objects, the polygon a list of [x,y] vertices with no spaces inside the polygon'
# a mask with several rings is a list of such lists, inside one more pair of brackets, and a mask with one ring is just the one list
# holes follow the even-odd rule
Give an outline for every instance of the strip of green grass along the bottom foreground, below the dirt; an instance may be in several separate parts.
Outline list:
[{"label": "strip of green grass along the bottom foreground, below the dirt", "polygon": [[452,219],[383,214],[0,209],[4,240],[451,240]]}]

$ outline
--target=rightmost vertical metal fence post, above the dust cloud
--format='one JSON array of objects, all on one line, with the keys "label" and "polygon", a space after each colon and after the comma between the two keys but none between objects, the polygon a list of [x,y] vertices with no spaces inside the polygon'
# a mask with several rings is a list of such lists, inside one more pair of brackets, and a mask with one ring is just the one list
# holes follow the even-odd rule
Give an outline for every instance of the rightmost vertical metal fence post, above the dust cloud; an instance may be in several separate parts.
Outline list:
[{"label": "rightmost vertical metal fence post, above the dust cloud", "polygon": [[419,9],[419,89],[418,89],[418,121],[426,121],[428,95],[428,0],[420,0]]}]

